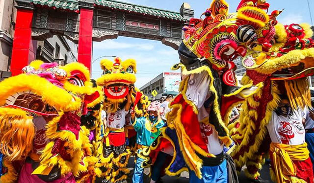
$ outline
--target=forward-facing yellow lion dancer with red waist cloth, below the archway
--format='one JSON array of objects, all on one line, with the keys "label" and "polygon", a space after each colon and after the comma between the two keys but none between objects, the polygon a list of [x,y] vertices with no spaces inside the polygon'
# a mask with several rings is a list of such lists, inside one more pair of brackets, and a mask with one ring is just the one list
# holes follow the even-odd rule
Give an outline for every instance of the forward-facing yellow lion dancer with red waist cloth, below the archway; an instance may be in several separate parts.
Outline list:
[{"label": "forward-facing yellow lion dancer with red waist cloth, below the archway", "polygon": [[[105,181],[116,183],[125,180],[130,172],[126,168],[131,155],[126,145],[126,132],[128,132],[125,129],[126,116],[131,107],[134,108],[137,117],[143,116],[148,106],[148,98],[134,87],[135,60],[128,59],[122,62],[120,58],[115,58],[114,62],[111,62],[104,59],[101,61],[101,67],[104,72],[97,79],[97,85],[104,88],[103,110],[107,114],[103,155],[100,158],[102,177]],[[137,104],[136,95],[139,96]]]}]

